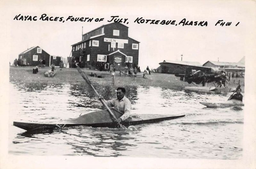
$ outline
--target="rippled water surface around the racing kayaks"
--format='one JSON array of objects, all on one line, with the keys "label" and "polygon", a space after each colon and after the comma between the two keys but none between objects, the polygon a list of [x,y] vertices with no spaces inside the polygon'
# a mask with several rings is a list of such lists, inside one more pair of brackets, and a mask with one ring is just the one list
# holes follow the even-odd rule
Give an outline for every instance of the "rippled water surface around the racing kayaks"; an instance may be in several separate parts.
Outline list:
[{"label": "rippled water surface around the racing kayaks", "polygon": [[[105,99],[116,87],[95,86]],[[127,129],[71,127],[31,134],[13,121],[47,122],[104,109],[86,84],[10,82],[9,153],[95,157],[238,159],[242,157],[244,111],[208,109],[199,102],[225,101],[228,95],[200,94],[157,87],[126,86],[132,113],[183,115]]]}]

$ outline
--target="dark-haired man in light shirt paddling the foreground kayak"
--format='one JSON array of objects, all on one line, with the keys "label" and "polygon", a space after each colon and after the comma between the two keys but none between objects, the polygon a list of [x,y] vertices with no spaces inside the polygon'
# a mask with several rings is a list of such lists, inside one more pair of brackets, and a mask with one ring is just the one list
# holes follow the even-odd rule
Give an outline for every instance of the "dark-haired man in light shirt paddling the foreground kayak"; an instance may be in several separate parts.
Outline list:
[{"label": "dark-haired man in light shirt paddling the foreground kayak", "polygon": [[116,89],[116,99],[112,100],[105,100],[101,95],[99,96],[99,100],[103,100],[108,107],[114,107],[115,110],[123,113],[123,115],[117,119],[117,121],[120,123],[127,119],[131,114],[131,102],[130,100],[125,97],[125,88],[117,88]]}]

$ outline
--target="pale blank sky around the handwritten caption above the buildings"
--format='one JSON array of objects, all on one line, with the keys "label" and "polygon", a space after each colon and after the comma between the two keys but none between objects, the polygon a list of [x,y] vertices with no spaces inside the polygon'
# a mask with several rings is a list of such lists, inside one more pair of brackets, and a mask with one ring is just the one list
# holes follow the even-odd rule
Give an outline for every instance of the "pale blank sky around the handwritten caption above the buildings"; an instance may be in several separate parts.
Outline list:
[{"label": "pale blank sky around the handwritten caption above the buildings", "polygon": [[[18,2],[18,1],[17,1]],[[246,57],[248,27],[253,16],[243,1],[104,1],[94,2],[24,1],[8,4],[5,15],[10,39],[9,61],[33,46],[40,46],[50,55],[70,56],[71,45],[82,40],[83,33],[111,22],[111,16],[127,19],[129,37],[140,42],[139,66],[157,68],[163,60],[238,62]],[[221,3],[220,3],[221,2]],[[15,20],[16,15],[36,16],[36,21]],[[43,21],[42,14],[63,17],[65,22]],[[66,20],[68,16],[93,18],[92,22]],[[137,23],[136,18],[160,20],[159,24]],[[104,18],[96,22],[96,18]],[[207,21],[207,26],[182,26],[186,21]],[[162,20],[175,20],[175,25],[161,25]],[[218,20],[232,22],[230,26],[215,24]],[[126,22],[127,22],[126,21]],[[237,23],[239,24],[235,26]],[[117,50],[117,49],[116,49]]]}]

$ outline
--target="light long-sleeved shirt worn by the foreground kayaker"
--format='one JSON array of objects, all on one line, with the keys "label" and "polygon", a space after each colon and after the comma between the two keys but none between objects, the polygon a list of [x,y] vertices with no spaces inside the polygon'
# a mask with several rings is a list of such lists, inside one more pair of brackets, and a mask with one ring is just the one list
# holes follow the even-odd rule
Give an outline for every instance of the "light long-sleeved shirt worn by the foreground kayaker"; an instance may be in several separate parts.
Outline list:
[{"label": "light long-sleeved shirt worn by the foreground kayaker", "polygon": [[117,98],[113,100],[104,100],[108,107],[114,107],[117,111],[124,113],[120,118],[122,121],[127,119],[131,114],[131,102],[125,96],[119,101]]}]

